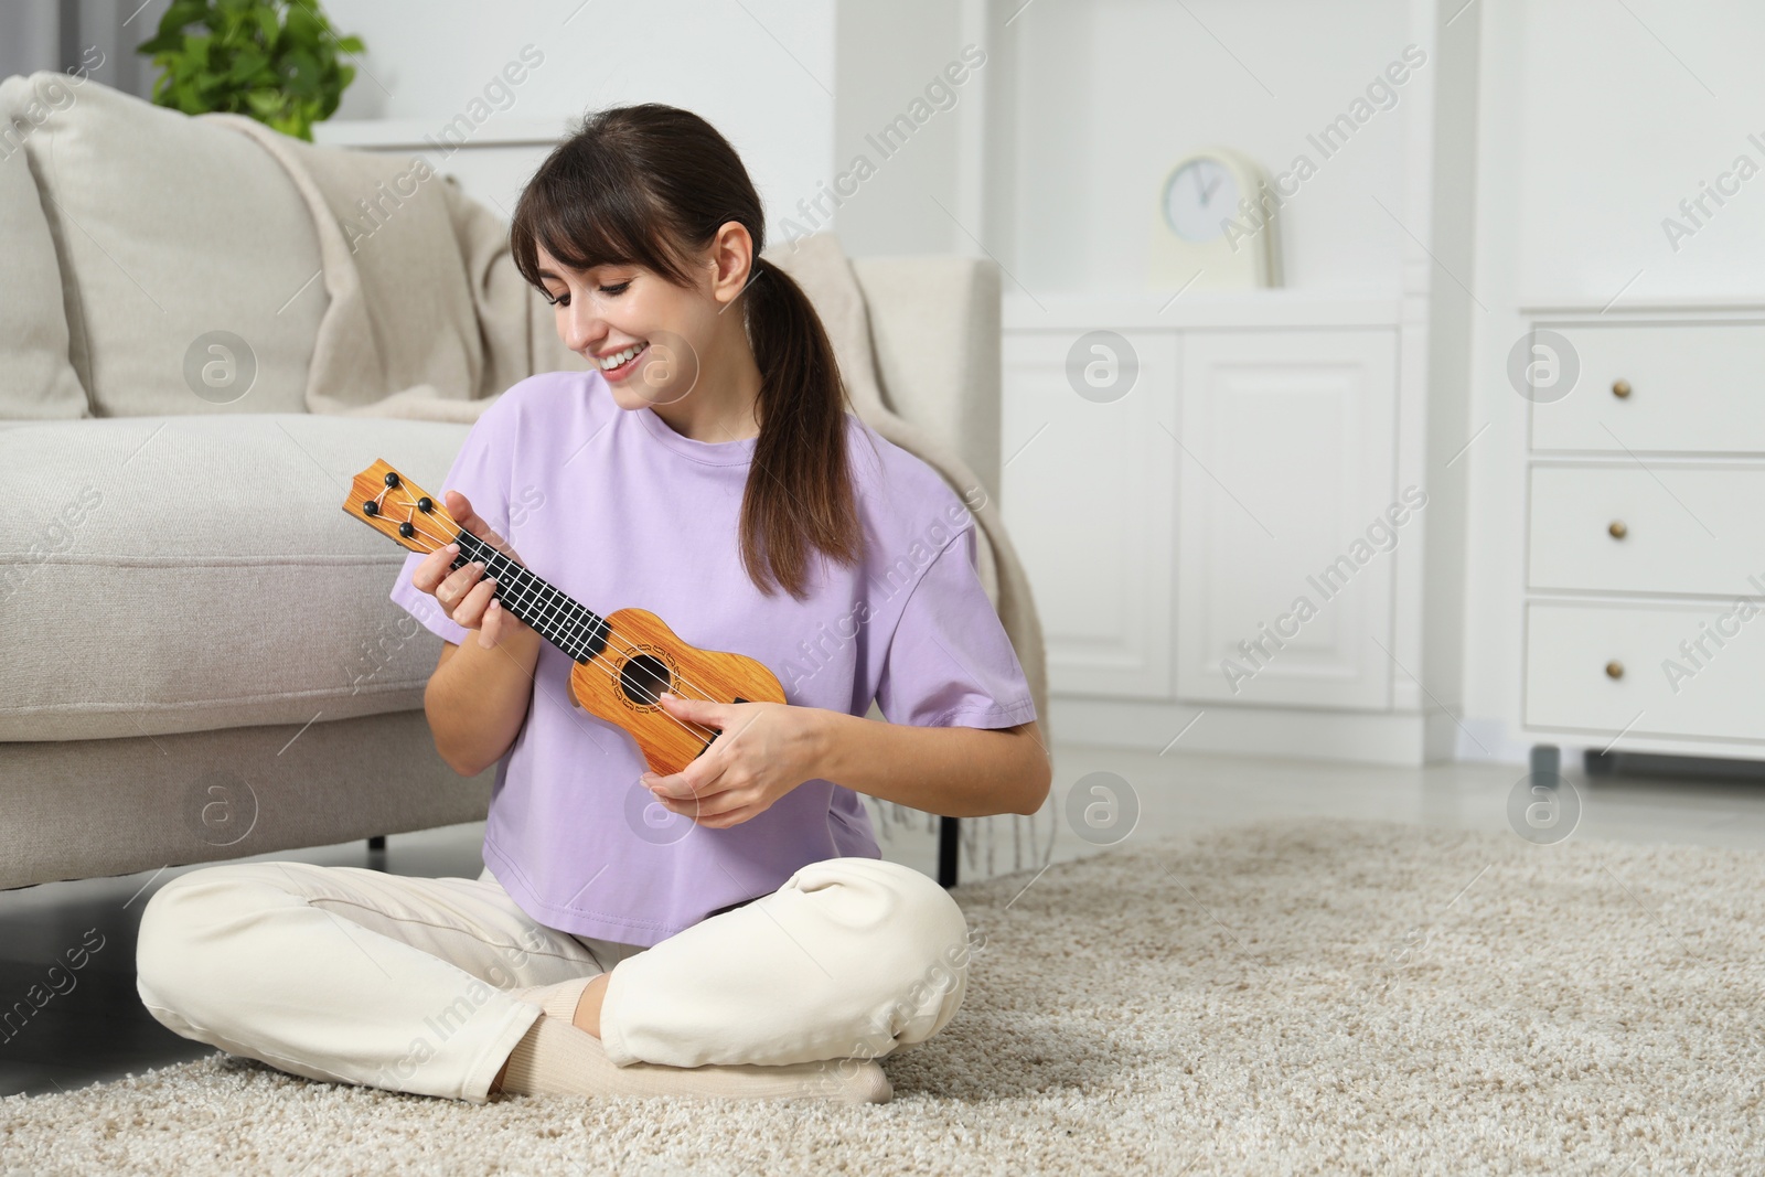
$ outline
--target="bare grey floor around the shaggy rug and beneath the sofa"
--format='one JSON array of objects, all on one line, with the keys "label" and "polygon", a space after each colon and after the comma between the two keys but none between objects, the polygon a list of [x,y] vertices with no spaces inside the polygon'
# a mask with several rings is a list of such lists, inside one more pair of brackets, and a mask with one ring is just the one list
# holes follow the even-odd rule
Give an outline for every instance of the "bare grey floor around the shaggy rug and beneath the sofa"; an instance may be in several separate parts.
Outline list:
[{"label": "bare grey floor around the shaggy rug and beneath the sofa", "polygon": [[[1567,787],[1534,792],[1527,769],[1490,764],[1386,768],[1225,755],[1154,755],[1063,745],[1055,792],[1034,822],[994,819],[994,872],[964,852],[964,877],[1011,870],[1011,829],[1052,861],[1107,854],[1130,840],[1232,826],[1267,817],[1386,819],[1465,829],[1506,829],[1528,840],[1611,838],[1765,849],[1765,782],[1670,776],[1594,776],[1566,766]],[[1080,785],[1075,789],[1075,785]],[[1077,796],[1075,796],[1077,794]],[[1532,822],[1539,798],[1555,826]],[[1580,810],[1571,821],[1571,812]],[[1068,817],[1068,812],[1071,817]],[[1541,831],[1543,824],[1543,831]],[[1573,829],[1571,829],[1573,826]],[[482,824],[395,835],[383,852],[364,842],[265,858],[337,866],[379,866],[402,875],[477,875]],[[879,822],[884,858],[934,873],[935,836]],[[1027,859],[1040,863],[1034,852]],[[980,866],[976,866],[980,863]],[[208,1046],[185,1041],[141,1008],[134,992],[134,932],[154,889],[189,868],[116,879],[56,882],[0,893],[0,995],[9,1006],[90,930],[102,948],[23,1031],[0,1041],[0,1094],[71,1091],[131,1071],[196,1059]],[[1027,879],[1025,879],[1027,882]]]}]

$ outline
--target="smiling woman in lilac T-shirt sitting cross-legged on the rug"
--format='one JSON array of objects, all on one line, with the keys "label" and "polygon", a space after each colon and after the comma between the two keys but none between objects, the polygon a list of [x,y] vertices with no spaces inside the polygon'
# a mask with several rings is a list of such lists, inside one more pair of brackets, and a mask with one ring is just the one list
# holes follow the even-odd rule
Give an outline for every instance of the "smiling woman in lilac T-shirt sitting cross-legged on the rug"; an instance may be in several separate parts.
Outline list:
[{"label": "smiling woman in lilac T-shirt sitting cross-legged on the rug", "polygon": [[572,658],[494,577],[454,570],[457,545],[411,554],[392,600],[445,639],[436,748],[496,764],[484,873],[192,872],[143,914],[141,999],[222,1050],[418,1094],[886,1101],[875,1059],[962,1002],[967,925],[881,859],[858,792],[946,815],[1048,792],[974,521],[847,411],[808,298],[759,258],[747,169],[697,115],[590,118],[510,240],[595,371],[487,406],[448,510],[579,602],[757,658],[789,702],[662,695],[722,736],[657,776],[570,702]]}]

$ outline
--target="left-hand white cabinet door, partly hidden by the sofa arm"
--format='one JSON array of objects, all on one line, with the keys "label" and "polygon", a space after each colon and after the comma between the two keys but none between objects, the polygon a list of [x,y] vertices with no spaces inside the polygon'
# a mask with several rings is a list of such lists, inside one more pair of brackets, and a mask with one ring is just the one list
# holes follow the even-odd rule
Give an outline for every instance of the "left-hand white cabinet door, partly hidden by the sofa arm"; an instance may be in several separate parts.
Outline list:
[{"label": "left-hand white cabinet door, partly hidden by the sofa arm", "polygon": [[1080,397],[1071,332],[1004,337],[1003,494],[1034,586],[1048,690],[1170,699],[1175,485],[1174,332],[1123,332],[1138,376],[1119,401]]}]

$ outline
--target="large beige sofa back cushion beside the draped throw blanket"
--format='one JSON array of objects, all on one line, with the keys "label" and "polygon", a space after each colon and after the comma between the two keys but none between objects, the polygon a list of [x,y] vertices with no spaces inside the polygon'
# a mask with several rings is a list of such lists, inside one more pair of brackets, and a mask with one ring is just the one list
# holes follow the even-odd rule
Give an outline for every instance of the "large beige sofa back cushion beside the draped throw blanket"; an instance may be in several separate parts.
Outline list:
[{"label": "large beige sofa back cushion beside the draped throw blanket", "polygon": [[[7,78],[0,115],[23,116],[56,78]],[[94,411],[304,411],[327,295],[286,173],[224,127],[90,79],[74,94],[25,150]]]}]

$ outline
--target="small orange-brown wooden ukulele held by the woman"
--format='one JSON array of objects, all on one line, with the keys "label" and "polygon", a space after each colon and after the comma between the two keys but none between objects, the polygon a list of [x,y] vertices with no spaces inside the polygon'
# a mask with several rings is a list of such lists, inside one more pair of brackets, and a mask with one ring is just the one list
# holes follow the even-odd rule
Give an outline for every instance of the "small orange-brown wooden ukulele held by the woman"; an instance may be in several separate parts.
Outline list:
[{"label": "small orange-brown wooden ukulele held by the woman", "polygon": [[355,476],[342,508],[413,552],[459,544],[454,568],[484,561],[503,609],[575,662],[570,702],[628,731],[657,773],[678,773],[722,734],[664,711],[664,690],[718,702],[785,701],[778,676],[747,655],[690,646],[646,609],[602,618],[577,603],[461,528],[441,503],[385,461]]}]

